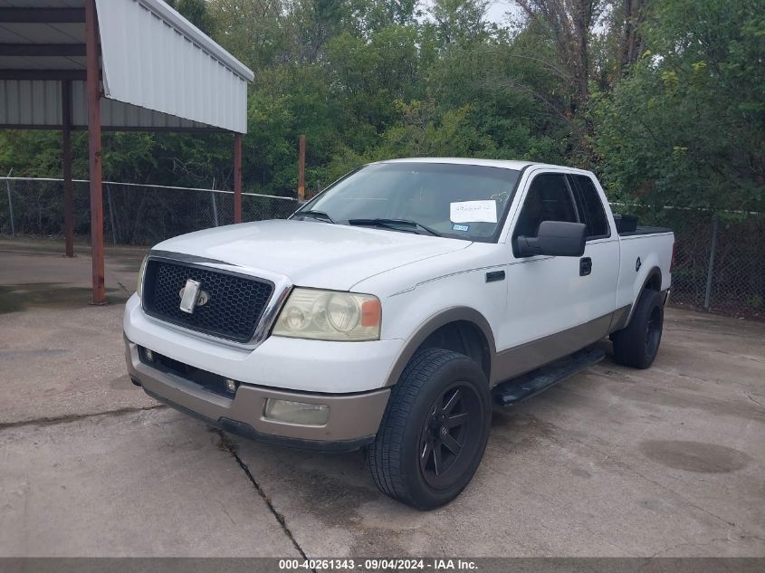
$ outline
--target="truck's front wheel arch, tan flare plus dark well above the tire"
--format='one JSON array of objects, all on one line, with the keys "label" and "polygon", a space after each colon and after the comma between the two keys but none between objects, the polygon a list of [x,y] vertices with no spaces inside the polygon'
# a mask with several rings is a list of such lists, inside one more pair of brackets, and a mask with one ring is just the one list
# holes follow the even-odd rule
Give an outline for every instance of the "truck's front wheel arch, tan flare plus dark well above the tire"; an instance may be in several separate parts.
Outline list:
[{"label": "truck's front wheel arch, tan flare plus dark well above the tire", "polygon": [[[446,336],[448,329],[457,329],[461,333],[460,337],[463,343],[466,342],[462,337],[468,338],[467,343],[473,345],[473,351],[470,353],[461,352],[461,354],[466,354],[471,358],[478,358],[476,353],[480,353],[481,359],[479,365],[483,369],[486,378],[491,380],[492,362],[496,355],[496,346],[489,321],[478,310],[470,307],[452,307],[428,317],[427,320],[417,327],[415,333],[406,340],[404,348],[398,354],[398,358],[387,374],[386,387],[397,383],[398,378],[401,376],[404,368],[406,368],[406,364],[408,364],[418,349],[431,348],[428,343],[433,341],[435,337],[438,337],[439,334],[443,333]],[[478,344],[477,348],[474,346],[475,344]]]}]

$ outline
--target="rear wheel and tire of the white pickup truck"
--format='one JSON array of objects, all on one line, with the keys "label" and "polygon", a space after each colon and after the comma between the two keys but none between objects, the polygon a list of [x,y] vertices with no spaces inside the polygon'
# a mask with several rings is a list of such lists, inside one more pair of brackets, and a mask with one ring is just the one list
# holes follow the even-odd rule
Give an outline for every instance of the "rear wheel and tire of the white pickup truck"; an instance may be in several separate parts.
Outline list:
[{"label": "rear wheel and tire of the white pickup truck", "polygon": [[648,368],[659,351],[664,325],[664,304],[661,293],[643,291],[637,301],[632,320],[611,336],[614,358],[632,368]]}]

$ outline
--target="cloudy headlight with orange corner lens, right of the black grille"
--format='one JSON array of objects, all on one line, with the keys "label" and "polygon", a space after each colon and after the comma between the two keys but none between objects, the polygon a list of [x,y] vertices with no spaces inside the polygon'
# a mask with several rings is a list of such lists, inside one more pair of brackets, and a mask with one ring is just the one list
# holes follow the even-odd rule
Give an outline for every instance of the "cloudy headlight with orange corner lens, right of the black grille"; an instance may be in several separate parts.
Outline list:
[{"label": "cloudy headlight with orange corner lens, right of the black grille", "polygon": [[380,301],[371,294],[295,289],[284,304],[274,336],[315,340],[378,340]]}]

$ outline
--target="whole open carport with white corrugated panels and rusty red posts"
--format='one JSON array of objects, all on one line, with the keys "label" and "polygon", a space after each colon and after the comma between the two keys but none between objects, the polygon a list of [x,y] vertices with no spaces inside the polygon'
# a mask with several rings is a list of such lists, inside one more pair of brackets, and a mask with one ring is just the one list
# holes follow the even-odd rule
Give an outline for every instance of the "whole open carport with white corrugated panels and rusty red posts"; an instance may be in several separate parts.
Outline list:
[{"label": "whole open carport with white corrugated panels and rusty red posts", "polygon": [[101,129],[234,133],[234,221],[251,72],[162,0],[0,0],[0,128],[62,129],[66,252],[70,132],[88,129],[93,302],[103,288]]}]

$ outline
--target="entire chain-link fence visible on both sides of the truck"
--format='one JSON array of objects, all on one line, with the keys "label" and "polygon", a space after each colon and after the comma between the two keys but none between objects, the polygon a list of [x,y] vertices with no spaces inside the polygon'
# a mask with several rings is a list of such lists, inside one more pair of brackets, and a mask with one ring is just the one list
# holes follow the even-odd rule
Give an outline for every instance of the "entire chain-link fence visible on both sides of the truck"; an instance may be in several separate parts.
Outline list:
[{"label": "entire chain-link fence visible on both sides of the truck", "polygon": [[[104,183],[104,239],[156,244],[177,234],[234,223],[231,191]],[[293,197],[244,193],[244,221],[286,218]],[[674,230],[671,302],[737,316],[765,315],[765,215],[673,207],[614,205],[640,224]],[[74,184],[74,231],[90,237],[87,181]],[[0,234],[61,236],[61,179],[0,177]]]}]

